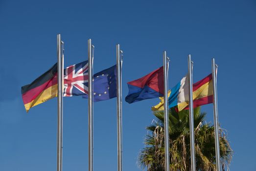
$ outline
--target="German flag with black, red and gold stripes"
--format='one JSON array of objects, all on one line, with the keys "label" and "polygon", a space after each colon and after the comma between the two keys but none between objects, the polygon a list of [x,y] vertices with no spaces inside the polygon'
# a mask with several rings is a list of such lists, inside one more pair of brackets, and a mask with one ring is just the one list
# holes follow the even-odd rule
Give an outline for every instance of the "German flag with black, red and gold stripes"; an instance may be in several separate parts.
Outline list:
[{"label": "German flag with black, red and gold stripes", "polygon": [[22,87],[22,98],[26,112],[47,100],[58,96],[57,63],[31,84]]}]

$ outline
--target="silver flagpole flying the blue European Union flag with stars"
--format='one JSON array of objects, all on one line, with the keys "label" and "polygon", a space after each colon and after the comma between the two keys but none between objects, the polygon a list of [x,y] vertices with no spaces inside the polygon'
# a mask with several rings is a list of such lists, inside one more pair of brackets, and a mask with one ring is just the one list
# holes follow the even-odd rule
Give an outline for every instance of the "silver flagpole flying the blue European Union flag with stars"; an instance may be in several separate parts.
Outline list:
[{"label": "silver flagpole flying the blue European Union flag with stars", "polygon": [[120,45],[116,44],[116,71],[117,71],[117,171],[122,171],[122,55]]}]

